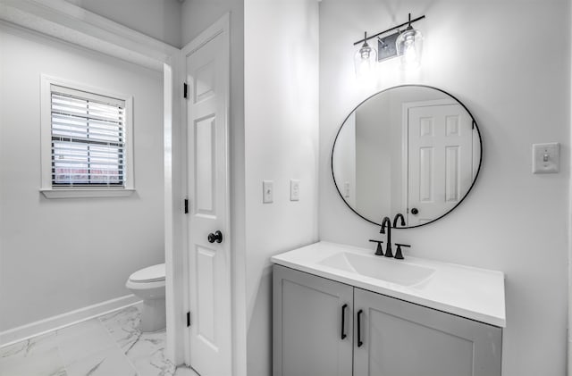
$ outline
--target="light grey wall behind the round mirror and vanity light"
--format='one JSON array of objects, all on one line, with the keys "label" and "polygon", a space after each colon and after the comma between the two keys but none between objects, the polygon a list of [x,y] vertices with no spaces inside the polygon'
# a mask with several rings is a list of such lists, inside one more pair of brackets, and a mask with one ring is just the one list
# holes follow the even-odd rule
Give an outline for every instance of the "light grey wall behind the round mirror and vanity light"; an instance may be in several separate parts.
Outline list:
[{"label": "light grey wall behind the round mirror and vanity light", "polygon": [[[388,62],[374,88],[357,87],[352,43],[364,30],[386,29],[409,12],[427,16],[416,23],[425,34],[422,70],[407,77]],[[320,4],[320,238],[371,247],[367,239],[378,232],[341,202],[329,171],[335,131],[353,107],[374,91],[403,82],[457,96],[483,134],[475,188],[442,220],[395,231],[394,237],[412,245],[406,257],[506,273],[505,376],[566,371],[569,24],[565,0]],[[560,173],[533,175],[531,145],[551,141],[562,146]]]}]

